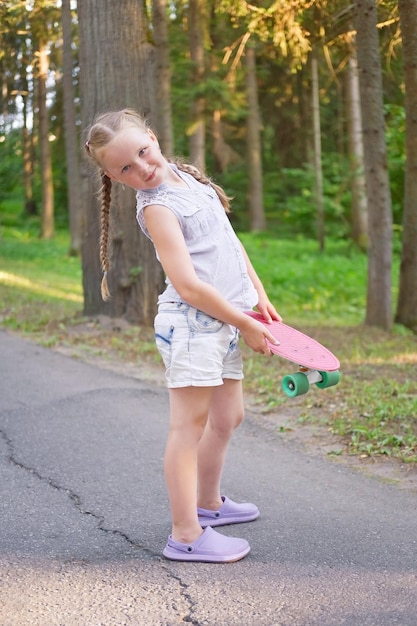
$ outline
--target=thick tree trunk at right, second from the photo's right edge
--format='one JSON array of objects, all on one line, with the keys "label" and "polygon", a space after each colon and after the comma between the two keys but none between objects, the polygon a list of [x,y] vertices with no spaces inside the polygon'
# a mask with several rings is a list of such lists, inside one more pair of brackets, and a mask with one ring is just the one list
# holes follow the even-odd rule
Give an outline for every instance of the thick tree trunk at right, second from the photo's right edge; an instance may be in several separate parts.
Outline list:
[{"label": "thick tree trunk at right, second from the photo's right edge", "polygon": [[382,70],[376,0],[355,0],[368,197],[368,290],[365,323],[392,325],[392,208],[384,136]]}]

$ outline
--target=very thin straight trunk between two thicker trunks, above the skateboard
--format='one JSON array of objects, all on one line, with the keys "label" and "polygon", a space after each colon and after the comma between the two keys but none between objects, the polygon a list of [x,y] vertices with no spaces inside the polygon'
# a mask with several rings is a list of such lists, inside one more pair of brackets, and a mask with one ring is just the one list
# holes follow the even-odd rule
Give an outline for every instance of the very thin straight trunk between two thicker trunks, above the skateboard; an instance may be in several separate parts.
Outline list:
[{"label": "very thin straight trunk between two thicker trunks, above the skateboard", "polygon": [[311,53],[311,98],[313,109],[314,175],[316,179],[317,240],[320,252],[323,252],[325,248],[323,169],[321,164],[319,72],[315,46],[313,46]]}]

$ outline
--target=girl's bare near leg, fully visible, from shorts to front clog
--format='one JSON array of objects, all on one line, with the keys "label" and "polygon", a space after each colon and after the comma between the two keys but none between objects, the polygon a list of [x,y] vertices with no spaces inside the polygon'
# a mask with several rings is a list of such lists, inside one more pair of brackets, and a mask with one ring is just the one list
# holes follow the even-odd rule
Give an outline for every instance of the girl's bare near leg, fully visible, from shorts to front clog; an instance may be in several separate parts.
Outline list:
[{"label": "girl's bare near leg, fully visible, from shorts to front clog", "polygon": [[197,450],[210,409],[212,387],[170,389],[170,424],[165,480],[172,514],[172,537],[192,543],[202,533],[197,516]]}]

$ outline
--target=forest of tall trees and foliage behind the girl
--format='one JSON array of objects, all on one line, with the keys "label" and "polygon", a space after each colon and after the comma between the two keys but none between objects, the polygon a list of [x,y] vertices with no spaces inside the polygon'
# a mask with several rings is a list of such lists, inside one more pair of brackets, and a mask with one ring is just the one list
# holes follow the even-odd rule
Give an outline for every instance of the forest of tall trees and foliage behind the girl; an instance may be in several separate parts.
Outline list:
[{"label": "forest of tall trees and foliage behind the girl", "polygon": [[[298,255],[292,288],[302,292],[321,258],[326,269],[335,263],[334,282],[322,287],[330,301],[354,256],[354,271],[365,273],[366,326],[416,331],[416,0],[14,0],[0,3],[0,16],[0,246],[12,230],[28,236],[28,225],[46,246],[69,232],[84,315],[149,326],[163,284],[135,224],[134,194],[119,189],[113,298],[100,297],[98,188],[83,142],[98,112],[129,106],[165,154],[186,157],[233,196],[231,219],[258,263],[268,260],[271,285],[286,284]],[[337,264],[325,256],[335,246]],[[414,459],[414,336],[407,342],[400,387],[385,384],[384,408],[371,413],[383,413],[380,442],[388,432]],[[390,409],[399,431],[381,427],[393,396],[405,398]],[[361,434],[355,424],[352,441],[369,451],[376,427]],[[386,441],[375,449],[390,449]]]}]

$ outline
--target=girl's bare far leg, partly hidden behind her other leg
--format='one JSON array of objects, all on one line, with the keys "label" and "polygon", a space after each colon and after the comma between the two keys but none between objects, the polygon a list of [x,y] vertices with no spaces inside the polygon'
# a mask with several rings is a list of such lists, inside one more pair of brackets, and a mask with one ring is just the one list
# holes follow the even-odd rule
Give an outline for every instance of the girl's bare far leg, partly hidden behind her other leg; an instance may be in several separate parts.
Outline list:
[{"label": "girl's bare far leg, partly hidden behind her other leg", "polygon": [[208,420],[198,444],[198,506],[221,506],[220,482],[226,452],[235,428],[243,419],[242,381],[225,379],[212,389]]}]

